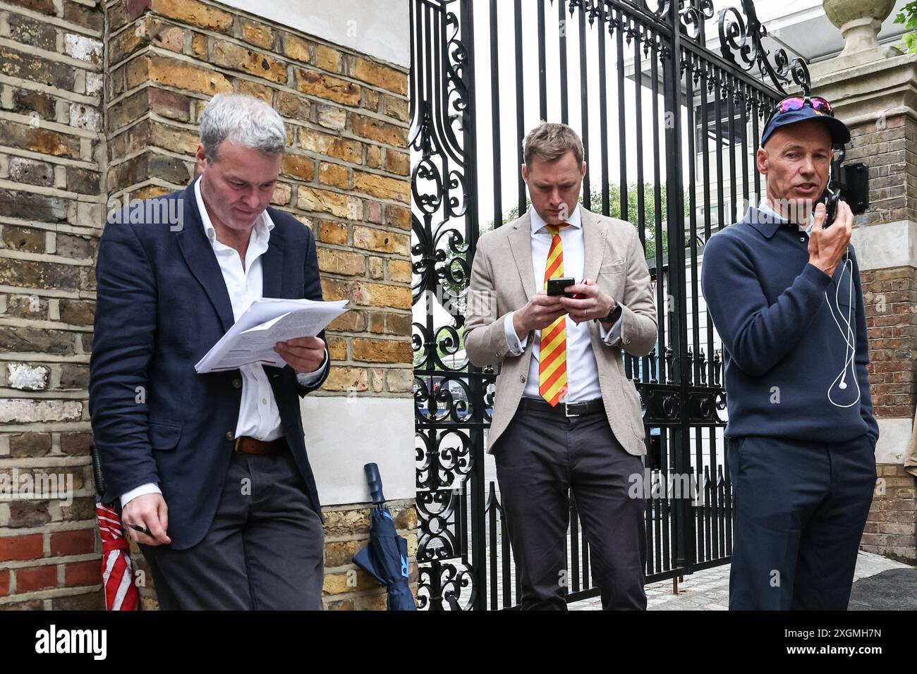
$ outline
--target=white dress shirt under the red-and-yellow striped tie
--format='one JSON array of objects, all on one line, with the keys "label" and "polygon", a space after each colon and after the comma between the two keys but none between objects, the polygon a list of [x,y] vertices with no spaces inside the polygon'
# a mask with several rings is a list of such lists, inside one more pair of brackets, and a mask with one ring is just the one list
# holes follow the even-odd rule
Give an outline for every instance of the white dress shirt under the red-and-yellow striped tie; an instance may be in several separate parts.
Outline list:
[{"label": "white dress shirt under the red-and-yellow striped tie", "polygon": [[[545,267],[547,266],[547,251],[551,247],[553,235],[547,229],[547,223],[538,215],[535,208],[529,209],[532,222],[532,267],[535,270],[535,287],[542,289],[545,286]],[[585,246],[582,238],[582,217],[578,205],[567,220],[568,227],[560,228],[560,243],[564,256],[564,276],[569,276],[582,282],[582,267],[585,259]],[[614,298],[615,302],[617,298]],[[506,316],[504,331],[506,344],[515,356],[522,354],[528,335],[520,339],[515,334],[513,316],[510,312]],[[562,400],[565,403],[582,403],[602,397],[599,388],[599,369],[595,363],[595,354],[592,353],[592,344],[589,337],[589,323],[584,321],[574,323],[569,315],[567,321],[567,396]],[[613,342],[621,336],[621,322],[624,316],[618,318],[610,330],[605,330],[599,324],[599,334],[605,344]],[[535,342],[532,345],[532,362],[528,368],[528,379],[525,381],[523,397],[541,399],[538,392],[538,362],[541,346],[541,331],[535,330]]]}]

